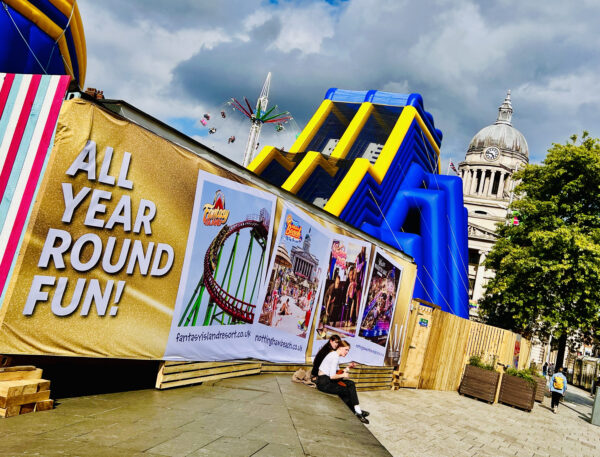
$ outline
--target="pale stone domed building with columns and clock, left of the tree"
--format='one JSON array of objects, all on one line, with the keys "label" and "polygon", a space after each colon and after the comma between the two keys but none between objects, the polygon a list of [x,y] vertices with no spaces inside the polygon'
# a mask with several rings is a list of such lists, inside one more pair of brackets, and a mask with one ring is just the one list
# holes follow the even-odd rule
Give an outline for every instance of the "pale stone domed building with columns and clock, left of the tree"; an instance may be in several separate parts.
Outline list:
[{"label": "pale stone domed building with columns and clock, left of the tree", "polygon": [[469,211],[469,299],[476,317],[483,286],[494,272],[482,263],[497,239],[496,224],[506,221],[513,198],[513,173],[529,163],[527,141],[512,126],[510,90],[498,108],[498,118],[482,128],[469,143],[465,160],[458,164]]}]

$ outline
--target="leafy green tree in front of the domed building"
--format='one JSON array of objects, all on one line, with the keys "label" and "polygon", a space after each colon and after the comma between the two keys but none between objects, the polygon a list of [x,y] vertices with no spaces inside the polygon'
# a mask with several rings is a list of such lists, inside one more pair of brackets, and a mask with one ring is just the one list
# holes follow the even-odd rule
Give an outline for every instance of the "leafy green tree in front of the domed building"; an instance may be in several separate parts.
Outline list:
[{"label": "leafy green tree in front of the domed building", "polygon": [[514,175],[519,225],[499,226],[485,265],[496,271],[480,304],[491,325],[545,340],[599,328],[600,140],[553,144],[541,165]]}]

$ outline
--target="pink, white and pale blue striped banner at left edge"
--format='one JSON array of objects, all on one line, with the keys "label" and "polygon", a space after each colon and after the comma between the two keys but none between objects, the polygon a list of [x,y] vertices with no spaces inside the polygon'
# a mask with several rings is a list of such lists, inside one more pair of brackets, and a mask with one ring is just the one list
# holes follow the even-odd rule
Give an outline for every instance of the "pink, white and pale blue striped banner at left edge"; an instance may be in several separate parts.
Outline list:
[{"label": "pink, white and pale blue striped banner at left edge", "polygon": [[69,76],[0,73],[0,296],[25,232]]}]

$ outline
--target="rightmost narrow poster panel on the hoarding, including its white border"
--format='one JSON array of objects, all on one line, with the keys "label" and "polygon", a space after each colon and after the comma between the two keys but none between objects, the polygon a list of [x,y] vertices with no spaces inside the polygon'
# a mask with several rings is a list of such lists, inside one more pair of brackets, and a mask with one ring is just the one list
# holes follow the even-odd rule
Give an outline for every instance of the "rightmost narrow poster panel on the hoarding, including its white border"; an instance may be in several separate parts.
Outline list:
[{"label": "rightmost narrow poster panel on the hoarding, including its white border", "polygon": [[383,250],[376,248],[355,344],[359,352],[356,356],[350,354],[350,357],[360,357],[361,363],[383,365],[390,331],[399,331],[391,326],[401,276],[402,267]]}]

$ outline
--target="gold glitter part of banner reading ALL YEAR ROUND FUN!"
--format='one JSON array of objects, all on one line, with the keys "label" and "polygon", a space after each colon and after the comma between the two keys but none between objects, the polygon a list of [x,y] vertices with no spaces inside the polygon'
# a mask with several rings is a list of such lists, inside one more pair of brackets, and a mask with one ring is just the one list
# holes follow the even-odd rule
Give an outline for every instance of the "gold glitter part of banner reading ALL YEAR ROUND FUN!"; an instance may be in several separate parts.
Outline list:
[{"label": "gold glitter part of banner reading ALL YEAR ROUND FUN!", "polygon": [[[162,358],[200,170],[252,185],[92,103],[65,102],[0,307],[0,353]],[[416,267],[394,258],[403,324]]]}]

